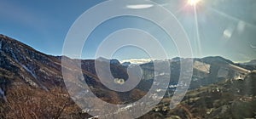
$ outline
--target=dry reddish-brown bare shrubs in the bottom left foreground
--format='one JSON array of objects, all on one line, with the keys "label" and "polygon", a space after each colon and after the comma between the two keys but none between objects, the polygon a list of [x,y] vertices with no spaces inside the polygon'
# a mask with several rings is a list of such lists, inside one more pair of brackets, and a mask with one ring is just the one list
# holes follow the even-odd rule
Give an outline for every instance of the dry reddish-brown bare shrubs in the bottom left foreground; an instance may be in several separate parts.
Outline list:
[{"label": "dry reddish-brown bare shrubs in the bottom left foreground", "polygon": [[45,91],[40,88],[13,86],[9,88],[8,102],[0,105],[0,118],[84,118],[66,91],[53,88]]}]

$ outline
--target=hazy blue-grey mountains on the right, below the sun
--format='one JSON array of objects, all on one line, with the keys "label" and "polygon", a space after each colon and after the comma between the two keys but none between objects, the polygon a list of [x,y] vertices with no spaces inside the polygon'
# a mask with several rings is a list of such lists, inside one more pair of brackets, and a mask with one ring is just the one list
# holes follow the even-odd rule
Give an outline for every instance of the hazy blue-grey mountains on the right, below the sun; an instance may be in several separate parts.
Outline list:
[{"label": "hazy blue-grey mountains on the right, below the sun", "polygon": [[[174,58],[170,59],[170,69],[171,69],[171,79],[170,86],[173,88],[177,85],[180,78],[180,63],[181,60],[186,61],[190,59]],[[229,59],[224,59],[222,57],[206,57],[202,59],[193,59],[193,76],[190,83],[190,89],[200,88],[202,86],[207,86],[212,83],[222,82],[224,80],[237,80],[246,77],[246,74],[250,70],[236,65]],[[154,78],[154,63],[149,62],[141,65],[143,71],[148,72],[146,75],[147,80],[152,80]],[[148,77],[151,76],[151,77]]]}]

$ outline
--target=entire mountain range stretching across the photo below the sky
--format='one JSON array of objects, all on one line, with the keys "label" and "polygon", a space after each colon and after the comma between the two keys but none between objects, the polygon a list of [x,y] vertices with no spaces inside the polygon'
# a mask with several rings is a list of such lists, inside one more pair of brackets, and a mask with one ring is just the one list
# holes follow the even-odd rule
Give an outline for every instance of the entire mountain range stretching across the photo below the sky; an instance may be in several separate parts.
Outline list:
[{"label": "entire mountain range stretching across the photo below the sky", "polygon": [[[2,97],[3,102],[9,101],[9,92],[12,92],[16,87],[38,88],[46,93],[51,92],[54,88],[61,88],[61,90],[64,90],[62,93],[67,94],[61,72],[61,59],[67,59],[71,63],[70,65],[65,65],[66,67],[62,67],[65,70],[75,71],[78,68],[78,64],[73,63],[79,59],[43,54],[11,37],[0,35],[0,97]],[[175,88],[177,88],[181,60],[188,59],[174,58],[167,60],[170,62],[172,74],[168,93],[172,94]],[[108,65],[110,63],[111,73],[119,83],[125,82],[128,79],[127,67],[132,67],[133,64],[128,61],[120,63],[117,59],[81,59],[84,81],[90,86],[90,90],[98,98],[112,104],[127,104],[142,98],[148,89],[151,88],[154,77],[159,77],[154,76],[153,61],[138,64],[143,70],[142,81],[131,91],[125,93],[115,92],[106,88],[97,77],[96,61],[101,62],[101,65]],[[195,58],[193,59],[193,65],[190,90],[218,82],[227,82],[227,80],[237,81],[247,77],[248,73],[256,69],[255,60],[236,64],[229,59],[218,56],[202,59]]]}]

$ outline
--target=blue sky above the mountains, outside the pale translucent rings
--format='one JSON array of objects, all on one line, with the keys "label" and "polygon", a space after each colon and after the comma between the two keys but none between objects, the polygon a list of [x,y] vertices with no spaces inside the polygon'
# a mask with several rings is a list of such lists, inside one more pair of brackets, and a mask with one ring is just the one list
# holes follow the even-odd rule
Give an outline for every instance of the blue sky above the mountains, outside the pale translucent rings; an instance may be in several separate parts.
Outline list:
[{"label": "blue sky above the mountains, outside the pale translucent rings", "polygon": [[[148,1],[128,4],[126,8],[142,12],[147,8],[154,9],[154,4]],[[177,18],[188,35],[194,57],[223,56],[235,62],[256,59],[255,0],[197,0],[199,3],[196,4],[189,4],[188,0],[152,1],[166,8]],[[13,37],[45,54],[61,55],[67,32],[73,23],[86,10],[102,2],[104,1],[0,0],[0,34]],[[90,17],[108,12],[111,10]],[[157,11],[149,15],[159,15],[163,20],[168,17]],[[177,47],[182,46],[177,46],[172,36],[168,36],[160,26],[150,20],[124,15],[106,20],[97,26],[86,39],[81,58],[93,59],[97,48],[106,37],[127,28],[147,31],[154,36],[170,59],[179,56]],[[123,37],[125,40],[143,38],[131,34]],[[145,45],[154,48],[155,44],[148,41]],[[119,48],[111,57],[121,60],[152,58],[143,48],[129,45]]]}]

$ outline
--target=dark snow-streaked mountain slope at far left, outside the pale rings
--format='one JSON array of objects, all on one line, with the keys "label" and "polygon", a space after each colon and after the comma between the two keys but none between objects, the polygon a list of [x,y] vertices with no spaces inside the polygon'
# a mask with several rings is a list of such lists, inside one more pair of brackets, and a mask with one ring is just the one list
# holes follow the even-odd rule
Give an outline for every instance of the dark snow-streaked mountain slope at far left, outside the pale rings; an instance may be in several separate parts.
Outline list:
[{"label": "dark snow-streaked mountain slope at far left, outside the pale rings", "polygon": [[0,70],[3,72],[0,78],[2,80],[15,81],[16,84],[17,82],[25,82],[44,89],[52,86],[63,86],[59,59],[42,54],[3,35],[0,35],[0,44]]}]

